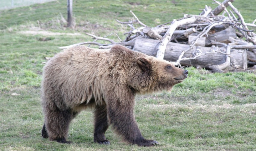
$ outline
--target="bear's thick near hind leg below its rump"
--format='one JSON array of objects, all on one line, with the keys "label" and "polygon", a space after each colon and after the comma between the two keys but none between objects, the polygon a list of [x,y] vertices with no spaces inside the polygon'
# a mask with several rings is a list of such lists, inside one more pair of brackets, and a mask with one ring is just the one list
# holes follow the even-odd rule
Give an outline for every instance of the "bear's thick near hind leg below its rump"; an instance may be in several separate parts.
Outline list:
[{"label": "bear's thick near hind leg below its rump", "polygon": [[60,110],[57,107],[55,109],[46,109],[45,128],[46,132],[48,132],[49,140],[70,144],[71,141],[67,141],[66,136],[68,135],[69,124],[74,116],[75,114],[71,110]]}]

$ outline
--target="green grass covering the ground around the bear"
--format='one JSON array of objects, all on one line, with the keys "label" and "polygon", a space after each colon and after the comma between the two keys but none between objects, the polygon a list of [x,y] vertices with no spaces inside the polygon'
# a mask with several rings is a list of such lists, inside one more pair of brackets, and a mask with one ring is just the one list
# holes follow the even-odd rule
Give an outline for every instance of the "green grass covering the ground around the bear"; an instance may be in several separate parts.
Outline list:
[{"label": "green grass covering the ground around the bear", "polygon": [[[254,0],[235,1],[246,22],[252,22]],[[132,10],[148,26],[156,26],[184,13],[198,14],[212,1],[74,1],[76,29],[65,27],[66,1],[35,4],[0,11],[0,150],[256,150],[256,76],[250,72],[210,73],[193,67],[188,78],[172,93],[137,96],[135,115],[143,136],[157,140],[156,147],[126,145],[111,130],[111,145],[93,143],[90,111],[73,120],[68,140],[72,145],[41,137],[43,113],[40,104],[45,57],[58,47],[89,41],[83,32],[104,36],[116,32],[124,39]],[[252,5],[246,5],[252,4]],[[1,4],[0,4],[1,7]],[[41,30],[80,35],[31,35],[21,31]],[[109,38],[116,39],[115,35]],[[12,94],[18,95],[12,95]]]}]

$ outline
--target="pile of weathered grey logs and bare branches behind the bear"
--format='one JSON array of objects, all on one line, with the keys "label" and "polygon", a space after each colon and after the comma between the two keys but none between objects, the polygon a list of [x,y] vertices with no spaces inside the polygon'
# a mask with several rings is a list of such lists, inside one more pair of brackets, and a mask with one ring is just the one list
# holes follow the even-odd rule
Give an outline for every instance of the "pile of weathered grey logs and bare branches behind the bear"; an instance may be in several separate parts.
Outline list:
[{"label": "pile of weathered grey logs and bare branches behind the bear", "polygon": [[[155,56],[172,62],[176,66],[195,66],[223,72],[223,70],[241,69],[256,65],[256,34],[245,23],[243,16],[233,6],[234,0],[220,3],[213,0],[218,7],[211,9],[207,5],[199,15],[184,15],[156,27],[143,24],[131,11],[135,20],[121,22],[131,27],[124,41],[115,42],[106,37],[98,37],[93,42],[81,42],[60,49],[82,44],[98,45],[100,49],[109,49],[115,44],[124,45],[134,51]],[[231,7],[228,11],[226,7]],[[222,15],[219,15],[223,11]],[[139,28],[134,23],[141,25]],[[168,25],[169,24],[169,25]],[[97,40],[105,40],[110,44],[101,44]]]}]

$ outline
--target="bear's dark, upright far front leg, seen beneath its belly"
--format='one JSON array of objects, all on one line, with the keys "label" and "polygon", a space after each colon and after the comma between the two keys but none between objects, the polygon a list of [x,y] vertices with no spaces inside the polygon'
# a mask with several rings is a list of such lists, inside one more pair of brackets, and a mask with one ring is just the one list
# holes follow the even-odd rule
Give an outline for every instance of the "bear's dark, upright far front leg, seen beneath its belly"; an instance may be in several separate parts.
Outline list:
[{"label": "bear's dark, upright far front leg, seen beneath its belly", "polygon": [[99,144],[109,145],[105,132],[108,129],[108,117],[106,105],[96,106],[94,110],[94,138],[93,141]]}]

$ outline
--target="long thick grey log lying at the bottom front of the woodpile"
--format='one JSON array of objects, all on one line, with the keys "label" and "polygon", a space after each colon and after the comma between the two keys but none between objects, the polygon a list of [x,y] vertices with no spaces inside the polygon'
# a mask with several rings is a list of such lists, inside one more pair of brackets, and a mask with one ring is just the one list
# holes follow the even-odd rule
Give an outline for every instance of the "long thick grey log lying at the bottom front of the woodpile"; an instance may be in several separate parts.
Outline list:
[{"label": "long thick grey log lying at the bottom front of the woodpile", "polygon": [[[150,56],[156,57],[157,48],[160,41],[153,39],[137,38],[133,47],[134,51],[142,52]],[[165,49],[164,60],[175,62],[178,60],[180,54],[189,49],[189,45],[168,42]],[[202,55],[203,54],[203,55]],[[180,62],[183,66],[196,66],[209,68],[212,65],[220,65],[226,62],[226,49],[219,47],[201,47],[196,46],[194,49],[190,49],[184,54],[183,58],[192,58],[197,55],[196,59],[182,60]],[[247,54],[245,50],[231,49],[231,60],[243,69],[247,68]],[[231,61],[232,62],[232,61]]]}]

